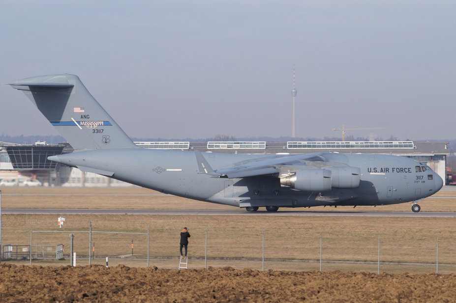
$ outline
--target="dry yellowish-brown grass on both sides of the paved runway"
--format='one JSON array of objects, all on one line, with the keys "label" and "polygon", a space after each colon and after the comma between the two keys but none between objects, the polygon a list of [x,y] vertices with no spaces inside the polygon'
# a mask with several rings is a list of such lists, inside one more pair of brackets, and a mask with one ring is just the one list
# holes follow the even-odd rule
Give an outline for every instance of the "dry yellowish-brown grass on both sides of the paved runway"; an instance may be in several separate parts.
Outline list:
[{"label": "dry yellowish-brown grass on both sides of the paved runway", "polygon": [[[422,211],[456,211],[455,192],[446,190],[437,195],[452,198],[426,198],[420,202]],[[136,187],[2,189],[1,198],[2,208],[233,209]],[[310,210],[334,211],[334,208],[316,207]],[[410,211],[410,204],[355,209],[339,207],[335,210]],[[321,248],[324,270],[376,272],[380,239],[382,271],[428,272],[436,269],[438,241],[439,272],[456,272],[453,249],[456,246],[455,218],[297,217],[286,214],[268,217],[65,215],[66,221],[63,228],[59,229],[57,217],[3,214],[1,243],[29,245],[32,228],[35,231],[32,235],[33,245],[64,244],[65,253],[68,253],[68,235],[73,233],[74,250],[79,256],[86,256],[78,262],[88,264],[88,231],[92,222],[92,243],[95,243],[97,257],[94,263],[103,263],[104,257],[110,256],[113,262],[145,266],[145,259],[137,257],[147,255],[147,235],[98,232],[147,233],[149,227],[149,252],[154,265],[174,268],[177,267],[176,257],[179,255],[179,232],[182,226],[187,226],[192,235],[189,255],[194,260],[193,266],[197,267],[205,266],[207,248],[210,259],[208,265],[259,269],[262,265],[264,236],[267,268],[318,270]],[[133,257],[113,258],[131,254],[132,240]],[[63,262],[67,264],[67,261]],[[398,263],[407,265],[399,266]]]}]

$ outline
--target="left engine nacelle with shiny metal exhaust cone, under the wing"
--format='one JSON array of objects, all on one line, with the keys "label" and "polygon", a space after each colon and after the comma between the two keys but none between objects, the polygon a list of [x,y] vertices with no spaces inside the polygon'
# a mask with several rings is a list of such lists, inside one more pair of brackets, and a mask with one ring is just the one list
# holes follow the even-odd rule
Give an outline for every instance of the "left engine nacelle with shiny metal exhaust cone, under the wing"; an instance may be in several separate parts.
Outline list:
[{"label": "left engine nacelle with shiny metal exhaust cone, under the wing", "polygon": [[280,178],[280,184],[304,192],[331,190],[331,170],[303,169],[290,176]]}]

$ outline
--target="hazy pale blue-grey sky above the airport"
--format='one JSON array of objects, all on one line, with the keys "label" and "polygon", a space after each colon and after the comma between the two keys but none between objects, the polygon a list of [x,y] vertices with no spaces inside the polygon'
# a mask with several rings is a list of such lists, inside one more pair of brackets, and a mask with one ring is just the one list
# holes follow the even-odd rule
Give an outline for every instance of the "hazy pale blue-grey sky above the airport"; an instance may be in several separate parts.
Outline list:
[{"label": "hazy pale blue-grey sky above the airport", "polygon": [[[130,137],[456,138],[454,0],[2,0],[0,83],[78,75]],[[0,134],[58,135],[0,86]]]}]

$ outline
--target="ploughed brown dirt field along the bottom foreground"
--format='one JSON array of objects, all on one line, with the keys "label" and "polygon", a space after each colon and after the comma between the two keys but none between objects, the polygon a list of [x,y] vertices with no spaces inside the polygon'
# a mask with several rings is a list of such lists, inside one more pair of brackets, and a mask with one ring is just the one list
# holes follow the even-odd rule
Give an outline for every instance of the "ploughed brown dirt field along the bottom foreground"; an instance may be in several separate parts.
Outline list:
[{"label": "ploughed brown dirt field along the bottom foreground", "polygon": [[0,265],[0,302],[455,302],[456,275]]}]

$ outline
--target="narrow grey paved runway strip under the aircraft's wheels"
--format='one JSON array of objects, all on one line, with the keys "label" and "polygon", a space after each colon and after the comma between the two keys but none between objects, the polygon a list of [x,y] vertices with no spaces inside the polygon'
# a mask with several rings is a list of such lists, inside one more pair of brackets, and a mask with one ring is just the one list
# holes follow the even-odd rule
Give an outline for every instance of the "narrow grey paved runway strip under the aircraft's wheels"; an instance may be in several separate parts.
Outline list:
[{"label": "narrow grey paved runway strip under the aircraft's wheels", "polygon": [[357,211],[278,211],[247,212],[233,210],[194,209],[22,209],[6,208],[2,214],[32,215],[182,215],[182,216],[303,216],[303,217],[411,217],[411,218],[456,218],[456,212],[357,212]]}]

